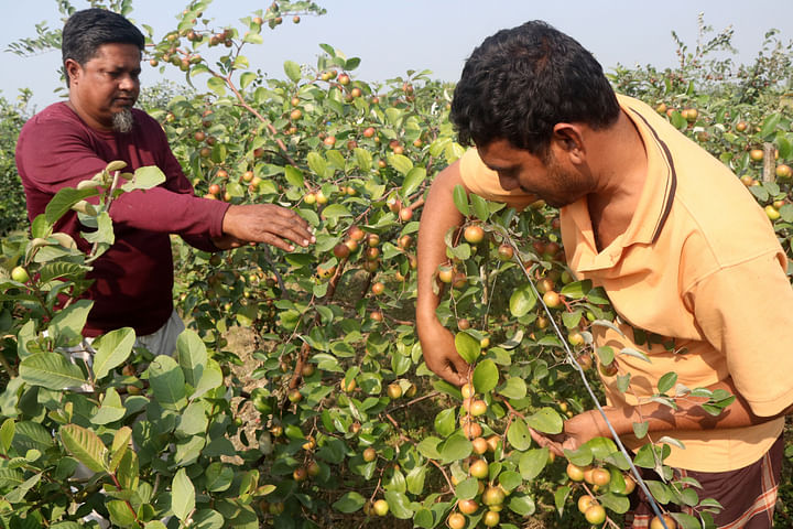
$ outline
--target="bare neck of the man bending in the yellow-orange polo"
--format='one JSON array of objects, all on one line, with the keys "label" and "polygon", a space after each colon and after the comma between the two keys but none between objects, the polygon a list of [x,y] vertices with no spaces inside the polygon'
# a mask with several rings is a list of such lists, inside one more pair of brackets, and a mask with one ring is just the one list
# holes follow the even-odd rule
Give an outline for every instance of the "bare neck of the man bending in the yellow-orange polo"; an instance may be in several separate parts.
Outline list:
[{"label": "bare neck of the man bending in the yellow-orange polo", "polygon": [[647,180],[644,142],[623,112],[616,125],[596,134],[597,191],[587,195],[598,251],[622,235],[633,218]]}]

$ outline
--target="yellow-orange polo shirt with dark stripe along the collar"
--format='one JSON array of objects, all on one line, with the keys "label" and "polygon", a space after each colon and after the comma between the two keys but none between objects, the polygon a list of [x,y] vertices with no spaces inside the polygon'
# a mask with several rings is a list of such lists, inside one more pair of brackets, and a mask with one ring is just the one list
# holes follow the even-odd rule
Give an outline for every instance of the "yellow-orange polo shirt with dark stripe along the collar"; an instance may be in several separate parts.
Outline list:
[{"label": "yellow-orange polo shirt with dark stripe along the collar", "polygon": [[[594,327],[595,346],[631,347],[652,360],[618,355],[618,374],[604,377],[609,402],[636,406],[656,391],[664,374],[675,371],[677,384],[689,389],[732,377],[754,413],[781,412],[793,402],[793,290],[768,217],[721,162],[652,108],[623,96],[619,102],[648,153],[648,177],[628,229],[598,252],[586,198],[561,209],[569,268],[604,287],[621,320],[624,336]],[[500,187],[474,149],[463,156],[460,171],[478,195],[526,203]],[[652,344],[642,338],[648,333],[658,335]],[[629,373],[630,389],[621,393],[616,377]],[[783,425],[784,419],[776,419],[651,438],[684,443],[685,450],[672,447],[669,465],[724,472],[759,460]],[[624,441],[638,449],[647,439]]]}]

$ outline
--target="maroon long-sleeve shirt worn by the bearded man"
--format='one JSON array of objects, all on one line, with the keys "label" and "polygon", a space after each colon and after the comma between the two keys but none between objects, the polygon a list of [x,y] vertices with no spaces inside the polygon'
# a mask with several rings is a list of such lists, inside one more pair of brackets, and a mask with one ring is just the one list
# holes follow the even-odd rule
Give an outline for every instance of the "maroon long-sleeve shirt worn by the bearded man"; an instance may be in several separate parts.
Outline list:
[{"label": "maroon long-sleeve shirt worn by the bearded man", "polygon": [[[124,193],[110,208],[116,244],[94,262],[95,282],[87,293],[94,307],[83,332],[97,336],[130,326],[138,335],[160,328],[173,310],[173,258],[169,234],[213,251],[210,237],[222,235],[228,204],[196,197],[171,152],[160,123],[134,109],[129,133],[88,127],[65,102],[31,118],[19,136],[17,166],[28,197],[31,220],[62,187],[75,187],[100,172],[108,162],[123,160],[133,171],[159,166],[166,181],[148,191]],[[90,245],[79,236],[85,228],[73,212],[55,226],[72,235],[82,250]]]}]

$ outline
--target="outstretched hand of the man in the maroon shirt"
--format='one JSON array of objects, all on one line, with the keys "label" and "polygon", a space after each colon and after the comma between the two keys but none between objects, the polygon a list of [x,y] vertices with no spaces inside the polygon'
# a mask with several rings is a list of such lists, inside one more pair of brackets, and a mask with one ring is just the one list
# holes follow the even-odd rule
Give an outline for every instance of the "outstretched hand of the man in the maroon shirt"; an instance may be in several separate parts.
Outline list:
[{"label": "outstretched hand of the man in the maroon shirt", "polygon": [[249,242],[264,242],[293,251],[294,246],[286,240],[303,247],[316,241],[304,218],[273,204],[230,206],[224,217],[222,230],[222,237],[213,239],[215,246],[222,250]]}]

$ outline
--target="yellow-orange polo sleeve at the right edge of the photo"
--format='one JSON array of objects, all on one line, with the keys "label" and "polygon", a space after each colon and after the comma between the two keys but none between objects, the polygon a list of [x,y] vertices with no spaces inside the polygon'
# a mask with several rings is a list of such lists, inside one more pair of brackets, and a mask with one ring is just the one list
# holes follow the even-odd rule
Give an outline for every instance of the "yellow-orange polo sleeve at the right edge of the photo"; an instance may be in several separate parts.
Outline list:
[{"label": "yellow-orange polo sleeve at the right edge of the photo", "polygon": [[687,296],[736,388],[761,417],[793,403],[793,290],[781,263],[784,253],[771,251],[719,268]]}]

